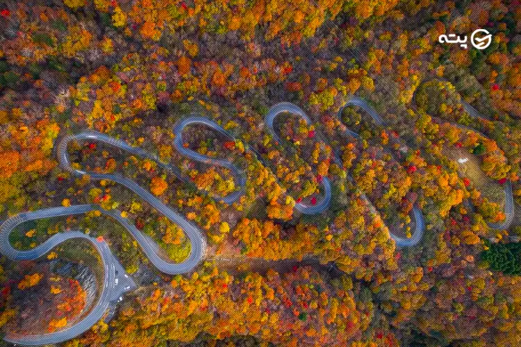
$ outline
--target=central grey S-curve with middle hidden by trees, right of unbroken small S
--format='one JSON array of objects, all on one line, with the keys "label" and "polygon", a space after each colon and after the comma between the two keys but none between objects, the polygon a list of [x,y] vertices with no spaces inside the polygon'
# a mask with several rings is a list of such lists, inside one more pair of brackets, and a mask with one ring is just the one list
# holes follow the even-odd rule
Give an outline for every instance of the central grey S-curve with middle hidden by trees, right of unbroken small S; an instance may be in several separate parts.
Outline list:
[{"label": "central grey S-curve with middle hidden by trees, right of unbroken small S", "polygon": [[[272,108],[270,108],[270,110],[267,112],[264,121],[273,139],[279,144],[283,144],[283,142],[281,137],[279,137],[279,134],[277,134],[276,130],[274,129],[274,121],[276,117],[278,117],[283,112],[297,115],[304,119],[306,124],[311,124],[311,119],[308,117],[308,115],[306,115],[306,112],[304,112],[294,103],[282,102],[272,106]],[[318,201],[315,205],[307,205],[306,203],[301,202],[295,203],[295,209],[303,214],[319,214],[329,208],[329,204],[331,203],[331,183],[329,182],[329,178],[322,178],[322,187],[324,187],[324,197],[320,201]]]}]

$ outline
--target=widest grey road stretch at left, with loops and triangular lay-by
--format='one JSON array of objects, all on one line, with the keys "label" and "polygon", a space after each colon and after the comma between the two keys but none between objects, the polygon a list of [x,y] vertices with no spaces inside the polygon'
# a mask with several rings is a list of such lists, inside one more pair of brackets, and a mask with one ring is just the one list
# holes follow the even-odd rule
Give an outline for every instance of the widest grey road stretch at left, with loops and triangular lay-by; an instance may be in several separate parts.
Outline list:
[{"label": "widest grey road stretch at left, with loops and triangular lay-by", "polygon": [[[11,244],[9,243],[9,235],[13,229],[18,226],[20,223],[24,223],[24,221],[30,221],[34,219],[42,219],[42,218],[51,218],[58,216],[67,216],[71,214],[84,214],[86,212],[92,210],[99,210],[101,213],[106,214],[110,217],[113,217],[118,223],[120,223],[126,230],[128,230],[131,235],[134,237],[135,241],[138,242],[143,252],[149,260],[156,266],[159,271],[163,273],[168,273],[170,275],[176,275],[179,273],[187,273],[199,264],[199,262],[204,257],[204,253],[206,252],[206,239],[202,235],[199,228],[190,223],[187,219],[185,219],[181,214],[175,212],[170,209],[158,200],[154,195],[148,192],[146,189],[143,189],[135,183],[133,180],[129,178],[125,178],[120,174],[99,174],[94,172],[86,172],[80,169],[74,169],[69,160],[69,153],[67,152],[67,147],[69,142],[73,140],[89,140],[89,141],[97,141],[104,142],[109,144],[110,146],[115,146],[125,151],[129,151],[135,155],[140,155],[144,158],[149,158],[151,160],[155,160],[160,164],[161,167],[165,169],[169,169],[173,171],[176,176],[181,178],[181,174],[179,170],[175,167],[172,167],[168,164],[164,164],[158,160],[154,155],[143,151],[142,149],[138,149],[136,147],[130,146],[126,144],[126,142],[120,141],[118,139],[113,139],[112,137],[108,137],[107,135],[101,133],[95,133],[92,131],[85,131],[83,133],[79,133],[78,135],[69,135],[66,136],[60,141],[58,144],[58,161],[60,162],[60,166],[63,167],[66,171],[69,171],[71,174],[75,176],[83,176],[89,175],[91,179],[94,180],[112,180],[116,183],[124,185],[125,187],[131,189],[135,194],[138,194],[144,201],[147,201],[150,205],[152,205],[158,212],[163,214],[173,223],[176,223],[179,227],[183,229],[185,234],[188,236],[191,242],[191,251],[190,255],[187,259],[185,259],[181,263],[171,263],[163,260],[160,255],[158,255],[158,245],[152,241],[149,237],[144,235],[138,228],[134,226],[129,219],[122,217],[121,211],[119,210],[104,210],[101,209],[97,205],[74,205],[69,207],[58,207],[58,208],[49,208],[45,210],[38,210],[34,212],[23,212],[21,214],[17,214],[14,217],[10,217],[7,221],[5,221],[0,226],[0,252],[3,255],[6,255],[11,260],[35,260],[38,257],[42,257],[43,255],[49,253],[51,249],[62,242],[67,241],[68,239],[82,238],[90,241],[97,249],[99,254],[101,255],[101,261],[104,265],[104,285],[101,290],[101,295],[96,305],[92,308],[90,313],[85,316],[84,319],[79,321],[78,323],[72,325],[69,328],[65,328],[64,330],[60,330],[57,332],[49,333],[49,334],[41,334],[41,335],[24,335],[24,336],[15,336],[15,335],[6,335],[4,338],[6,341],[9,341],[13,344],[22,344],[27,346],[35,346],[42,344],[57,344],[63,341],[67,341],[68,339],[72,339],[77,335],[88,330],[94,323],[97,323],[99,319],[104,315],[110,303],[117,301],[119,297],[125,291],[131,290],[135,288],[134,282],[126,275],[122,266],[115,260],[113,253],[110,252],[110,248],[108,248],[106,242],[101,240],[101,242],[97,239],[93,239],[89,237],[83,232],[74,231],[74,232],[61,232],[56,235],[53,235],[50,239],[48,239],[40,246],[37,246],[30,251],[17,251]],[[122,276],[122,277],[119,277]]]}]

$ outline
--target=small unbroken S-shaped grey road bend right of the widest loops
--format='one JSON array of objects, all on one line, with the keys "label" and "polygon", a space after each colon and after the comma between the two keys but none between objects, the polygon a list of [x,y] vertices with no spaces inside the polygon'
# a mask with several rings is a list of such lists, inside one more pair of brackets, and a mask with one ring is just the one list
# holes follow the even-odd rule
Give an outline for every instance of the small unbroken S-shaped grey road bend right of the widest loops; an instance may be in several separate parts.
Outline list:
[{"label": "small unbroken S-shaped grey road bend right of the widest loops", "polygon": [[200,153],[197,153],[196,151],[193,151],[192,149],[185,148],[184,142],[183,142],[183,129],[186,126],[192,125],[192,124],[199,124],[208,126],[209,128],[215,130],[217,133],[220,133],[226,137],[229,137],[229,139],[234,139],[233,135],[228,133],[226,130],[222,128],[219,124],[215,123],[215,121],[212,121],[206,117],[199,117],[199,116],[191,116],[186,119],[183,119],[179,123],[177,123],[174,126],[174,146],[181,153],[181,155],[184,155],[187,158],[190,158],[192,160],[195,160],[197,162],[203,162],[204,164],[210,164],[210,165],[216,165],[219,167],[225,167],[226,169],[229,169],[233,175],[233,178],[235,179],[235,183],[240,187],[238,191],[231,192],[230,194],[222,197],[215,197],[224,203],[231,205],[235,201],[238,201],[238,199],[245,193],[245,185],[246,185],[246,176],[244,172],[242,172],[238,167],[236,167],[234,164],[229,162],[228,160],[224,159],[216,159],[216,158],[210,158],[208,155],[203,155]]}]

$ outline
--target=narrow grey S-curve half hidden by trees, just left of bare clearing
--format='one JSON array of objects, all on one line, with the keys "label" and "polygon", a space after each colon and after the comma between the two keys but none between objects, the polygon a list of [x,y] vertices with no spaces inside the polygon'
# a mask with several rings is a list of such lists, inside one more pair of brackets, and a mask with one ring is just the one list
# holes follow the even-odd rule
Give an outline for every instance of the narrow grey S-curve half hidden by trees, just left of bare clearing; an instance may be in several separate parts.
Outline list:
[{"label": "narrow grey S-curve half hidden by trees, just left of bare clearing", "polygon": [[[379,126],[386,126],[386,122],[380,117],[378,112],[372,108],[372,106],[367,103],[364,99],[358,96],[352,96],[345,105],[343,105],[340,110],[338,110],[337,117],[342,122],[342,112],[345,108],[349,105],[355,105],[360,108],[362,108],[365,112],[367,112],[368,115],[374,120],[376,124]],[[360,135],[358,133],[355,133],[353,130],[346,128],[346,133],[348,135],[351,135],[355,137],[356,139],[361,139]],[[390,233],[390,236],[392,239],[395,240],[395,244],[398,247],[411,247],[417,245],[422,237],[423,233],[425,231],[425,218],[423,216],[422,210],[417,205],[413,206],[413,217],[415,219],[415,230],[413,232],[413,235],[409,238],[399,237],[397,235],[394,235]]]}]

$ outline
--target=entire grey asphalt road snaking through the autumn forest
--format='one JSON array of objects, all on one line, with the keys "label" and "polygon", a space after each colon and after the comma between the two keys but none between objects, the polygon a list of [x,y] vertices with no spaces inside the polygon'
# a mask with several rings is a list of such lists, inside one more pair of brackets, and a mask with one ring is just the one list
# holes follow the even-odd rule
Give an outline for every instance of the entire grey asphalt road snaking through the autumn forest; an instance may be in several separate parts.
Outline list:
[{"label": "entire grey asphalt road snaking through the autumn forest", "polygon": [[[368,106],[362,99],[353,98],[350,101],[348,101],[346,105],[349,104],[358,104],[361,105],[361,107],[363,107],[364,109],[367,108],[367,112],[369,112],[375,120],[379,119],[381,121],[379,115],[377,115],[377,113],[374,112],[374,110],[372,110],[372,108],[370,108],[370,106]],[[278,103],[274,105],[265,117],[265,124],[268,130],[270,130],[270,133],[272,133],[272,136],[274,137],[275,141],[279,143],[281,143],[281,139],[274,130],[274,119],[276,119],[276,117],[283,112],[290,112],[292,114],[299,115],[306,121],[307,124],[311,124],[311,119],[297,105],[287,102]],[[174,139],[174,146],[179,151],[179,153],[181,153],[181,155],[185,155],[187,158],[190,158],[198,162],[203,162],[205,164],[225,167],[226,169],[229,169],[231,171],[235,178],[235,182],[237,183],[240,189],[238,189],[235,192],[231,192],[226,196],[215,196],[215,198],[219,199],[220,201],[223,201],[224,203],[234,203],[238,200],[238,198],[240,198],[240,196],[242,196],[242,194],[244,194],[246,184],[246,177],[244,172],[238,169],[238,167],[235,167],[235,165],[229,162],[228,160],[210,158],[206,155],[202,155],[200,153],[197,153],[196,151],[185,148],[182,133],[183,129],[190,124],[208,126],[213,130],[217,131],[217,133],[229,137],[230,139],[234,139],[233,136],[214,121],[195,115],[188,117],[183,121],[180,121],[178,124],[176,124],[176,126],[174,126],[174,134],[176,135]],[[358,136],[358,134],[356,133],[353,134]],[[165,164],[161,162],[159,158],[156,157],[156,155],[152,155],[151,153],[148,153],[143,149],[131,146],[122,140],[114,139],[113,137],[109,137],[107,135],[97,133],[94,131],[84,131],[76,135],[67,135],[59,142],[57,147],[58,161],[60,162],[60,166],[65,171],[68,171],[70,174],[74,176],[81,177],[84,175],[88,175],[93,180],[111,180],[115,183],[119,183],[120,185],[124,185],[124,187],[130,189],[135,194],[138,194],[138,196],[140,196],[140,198],[142,198],[144,201],[147,201],[147,203],[149,203],[152,207],[158,210],[158,212],[163,214],[165,217],[167,217],[167,219],[181,227],[187,235],[187,237],[190,239],[190,255],[181,263],[172,263],[163,260],[163,258],[160,257],[160,254],[158,253],[158,244],[156,244],[156,242],[147,237],[147,235],[144,235],[140,230],[138,230],[138,228],[136,228],[129,219],[122,217],[121,211],[104,210],[99,205],[73,205],[68,207],[48,208],[32,212],[22,212],[13,217],[10,217],[6,221],[4,221],[0,226],[0,253],[6,255],[6,257],[8,257],[10,260],[35,260],[39,257],[46,255],[47,253],[49,253],[49,251],[51,251],[51,249],[58,246],[59,244],[62,244],[63,242],[66,242],[67,240],[85,239],[88,242],[90,242],[94,246],[94,248],[96,248],[99,255],[101,256],[101,262],[104,266],[104,285],[101,289],[99,299],[96,305],[92,308],[92,310],[90,310],[90,312],[86,314],[86,316],[84,316],[83,319],[81,319],[81,321],[78,321],[78,323],[75,323],[74,325],[63,330],[51,332],[48,334],[22,336],[8,333],[6,337],[4,337],[4,339],[12,344],[36,346],[42,344],[57,344],[72,339],[85,332],[90,327],[92,327],[92,325],[97,323],[97,321],[102,319],[110,305],[121,300],[122,295],[124,293],[133,290],[136,287],[133,280],[129,278],[129,276],[125,273],[121,264],[119,264],[113,253],[110,251],[108,244],[106,244],[106,242],[102,238],[94,239],[93,237],[85,235],[81,231],[60,232],[56,235],[51,236],[49,239],[47,239],[47,241],[29,251],[19,251],[13,248],[13,246],[9,242],[9,235],[11,232],[13,232],[13,230],[15,230],[17,226],[26,221],[60,216],[69,216],[73,214],[85,214],[94,210],[99,211],[108,217],[112,217],[121,226],[123,226],[132,235],[135,241],[138,242],[138,244],[142,248],[142,251],[145,255],[147,255],[152,264],[154,264],[154,266],[156,266],[156,268],[159,271],[162,271],[163,273],[167,273],[170,275],[188,273],[189,271],[192,271],[192,269],[194,269],[195,266],[197,266],[197,264],[199,264],[199,262],[203,259],[204,254],[206,253],[206,238],[201,233],[201,230],[199,230],[199,228],[197,228],[197,226],[195,226],[194,224],[190,223],[190,221],[185,219],[185,217],[183,217],[181,214],[167,207],[167,205],[165,205],[158,198],[156,198],[156,196],[152,195],[148,190],[138,185],[138,183],[135,183],[133,180],[126,178],[121,174],[101,174],[97,172],[88,172],[83,171],[81,169],[75,169],[69,158],[69,153],[67,149],[70,142],[82,140],[102,142],[104,144],[108,144],[110,146],[114,146],[129,153],[132,153],[133,155],[138,155],[142,158],[154,160],[159,167],[172,172],[183,183],[192,185],[190,180],[188,180],[188,178],[181,174],[179,168],[174,167],[171,164]],[[259,160],[262,160],[258,153],[256,153],[253,149],[250,150],[256,154]],[[335,155],[335,160],[336,162],[341,164],[338,155]],[[319,203],[315,205],[296,203],[295,209],[297,209],[299,212],[303,214],[319,214],[321,212],[324,212],[324,210],[326,210],[331,203],[331,183],[329,181],[329,178],[322,178],[322,185],[324,187],[324,197]],[[399,247],[413,246],[417,244],[422,237],[422,233],[424,230],[424,221],[422,213],[420,210],[415,209],[414,214],[416,218],[417,230],[415,231],[413,237],[411,237],[410,239],[402,239],[400,237],[392,235],[392,238],[395,240],[397,246]]]}]

